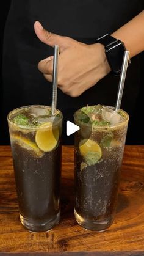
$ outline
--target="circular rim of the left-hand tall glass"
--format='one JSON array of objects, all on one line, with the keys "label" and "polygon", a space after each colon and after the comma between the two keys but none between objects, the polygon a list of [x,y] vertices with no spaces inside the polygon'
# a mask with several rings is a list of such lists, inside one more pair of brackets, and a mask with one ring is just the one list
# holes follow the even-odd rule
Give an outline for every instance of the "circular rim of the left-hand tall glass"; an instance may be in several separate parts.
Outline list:
[{"label": "circular rim of the left-hand tall glass", "polygon": [[[40,126],[26,126],[26,125],[19,125],[18,123],[15,123],[15,122],[13,122],[11,119],[10,119],[10,116],[12,115],[12,114],[15,114],[14,112],[17,112],[18,110],[21,110],[21,109],[30,109],[30,108],[34,108],[34,107],[42,107],[42,108],[49,108],[49,109],[51,109],[51,106],[46,106],[46,105],[40,105],[40,104],[32,104],[32,105],[26,105],[26,106],[20,106],[20,107],[18,107],[18,108],[15,108],[15,109],[13,109],[12,111],[10,111],[9,112],[9,114],[7,114],[7,120],[8,120],[8,123],[10,123],[11,125],[14,125],[14,126],[16,126],[16,127],[19,127],[19,128],[23,128],[23,129],[25,129],[25,130],[38,130],[38,129],[41,129],[42,127],[40,127]],[[60,114],[60,117],[59,117],[59,119],[57,120],[57,122],[56,123],[54,123],[54,125],[56,125],[57,123],[59,123],[62,119],[63,119],[63,114],[62,114],[62,112],[59,110],[59,109],[56,109],[56,111],[57,111],[57,114]],[[56,115],[57,115],[56,114]],[[51,116],[50,116],[51,117]],[[45,128],[47,128],[47,127],[49,127],[49,126],[45,126]],[[43,127],[44,128],[44,127]]]}]

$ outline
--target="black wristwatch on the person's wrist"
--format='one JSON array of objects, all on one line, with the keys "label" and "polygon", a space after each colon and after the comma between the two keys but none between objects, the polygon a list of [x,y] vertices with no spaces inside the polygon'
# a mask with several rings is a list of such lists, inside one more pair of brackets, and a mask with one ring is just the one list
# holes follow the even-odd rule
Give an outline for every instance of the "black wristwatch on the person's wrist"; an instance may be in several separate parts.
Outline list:
[{"label": "black wristwatch on the person's wrist", "polygon": [[123,55],[124,51],[126,51],[124,43],[109,34],[99,37],[96,39],[96,42],[104,45],[107,61],[109,62],[112,72],[115,75],[120,75]]}]

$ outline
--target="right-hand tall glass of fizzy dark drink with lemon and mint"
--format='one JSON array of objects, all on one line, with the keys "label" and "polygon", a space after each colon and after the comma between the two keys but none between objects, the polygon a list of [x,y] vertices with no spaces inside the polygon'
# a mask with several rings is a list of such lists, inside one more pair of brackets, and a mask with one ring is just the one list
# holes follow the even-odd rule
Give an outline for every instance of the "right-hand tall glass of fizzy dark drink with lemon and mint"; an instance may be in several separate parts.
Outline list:
[{"label": "right-hand tall glass of fizzy dark drink with lemon and mint", "polygon": [[129,115],[109,106],[87,106],[74,114],[76,221],[106,230],[113,222]]}]

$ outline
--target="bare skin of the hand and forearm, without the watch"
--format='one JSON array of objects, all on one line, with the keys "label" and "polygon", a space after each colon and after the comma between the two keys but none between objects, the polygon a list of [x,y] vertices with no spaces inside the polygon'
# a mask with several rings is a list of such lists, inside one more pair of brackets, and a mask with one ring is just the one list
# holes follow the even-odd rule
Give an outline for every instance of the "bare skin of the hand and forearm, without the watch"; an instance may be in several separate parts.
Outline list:
[{"label": "bare skin of the hand and forearm, without the watch", "polygon": [[[86,45],[70,37],[62,37],[43,29],[36,21],[35,33],[41,42],[49,46],[59,45],[58,86],[71,97],[81,95],[110,72],[104,46],[100,43]],[[113,32],[113,37],[124,42],[130,57],[144,50],[144,11]],[[41,60],[38,69],[52,82],[52,56]]]}]

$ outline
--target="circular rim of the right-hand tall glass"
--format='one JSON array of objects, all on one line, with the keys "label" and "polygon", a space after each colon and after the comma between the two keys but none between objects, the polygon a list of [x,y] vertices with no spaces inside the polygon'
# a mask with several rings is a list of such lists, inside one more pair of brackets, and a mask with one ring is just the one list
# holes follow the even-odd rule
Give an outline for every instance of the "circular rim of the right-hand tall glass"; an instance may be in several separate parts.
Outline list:
[{"label": "circular rim of the right-hand tall glass", "polygon": [[[92,106],[95,106],[95,105],[92,105]],[[101,105],[102,107],[104,108],[109,108],[109,109],[115,109],[115,107],[113,106],[107,106],[107,105]],[[80,108],[82,109],[82,108]],[[85,126],[90,126],[92,125],[91,123],[84,123],[82,122],[81,120],[77,119],[76,117],[76,113],[80,110],[80,109],[77,109],[76,112],[74,112],[74,120],[76,119],[79,123],[81,123],[82,125],[85,125]],[[127,123],[129,121],[129,114],[124,111],[123,109],[118,109],[118,111],[122,111],[125,115],[126,115],[126,119],[124,119],[122,122],[120,123],[117,123],[115,125],[92,125],[92,129],[107,129],[107,128],[117,128],[118,126],[123,126],[124,123]]]}]

